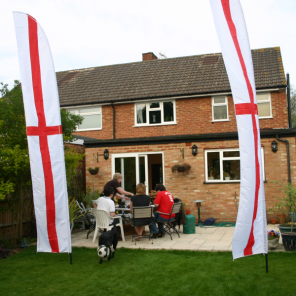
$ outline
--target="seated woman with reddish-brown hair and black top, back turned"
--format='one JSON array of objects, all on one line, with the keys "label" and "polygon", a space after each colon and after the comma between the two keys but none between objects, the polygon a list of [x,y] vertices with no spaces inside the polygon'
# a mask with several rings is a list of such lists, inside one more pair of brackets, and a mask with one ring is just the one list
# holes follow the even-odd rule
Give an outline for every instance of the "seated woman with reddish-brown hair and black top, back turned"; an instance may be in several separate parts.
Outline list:
[{"label": "seated woman with reddish-brown hair and black top, back turned", "polygon": [[[130,203],[130,210],[131,213],[133,213],[133,207],[147,207],[150,206],[150,196],[145,194],[146,188],[145,185],[140,183],[136,186],[136,195],[134,195],[131,198],[131,203]],[[139,218],[137,219],[138,221],[141,220],[143,222],[145,222],[145,218]],[[137,241],[139,241],[141,239],[141,236],[143,234],[143,231],[145,229],[145,226],[134,226],[135,227],[135,231],[138,234],[138,238],[136,239]]]}]

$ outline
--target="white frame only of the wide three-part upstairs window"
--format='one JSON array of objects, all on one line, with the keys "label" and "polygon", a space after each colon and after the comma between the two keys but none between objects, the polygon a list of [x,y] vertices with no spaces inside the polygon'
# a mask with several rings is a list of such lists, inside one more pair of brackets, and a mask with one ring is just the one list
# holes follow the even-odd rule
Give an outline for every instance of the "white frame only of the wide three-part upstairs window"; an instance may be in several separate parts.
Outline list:
[{"label": "white frame only of the wide three-part upstairs window", "polygon": [[[173,121],[164,121],[163,120],[163,103],[164,102],[173,102],[173,112],[174,112],[174,120]],[[152,103],[159,103],[159,108],[151,108],[150,109],[150,104]],[[138,123],[137,122],[137,105],[146,105],[146,123]],[[156,123],[156,124],[151,124],[149,123],[149,111],[158,111],[160,110],[161,112],[161,123]],[[165,100],[165,101],[150,101],[150,102],[137,102],[135,103],[135,127],[138,126],[159,126],[159,125],[171,125],[171,124],[177,124],[176,121],[176,100]]]}]

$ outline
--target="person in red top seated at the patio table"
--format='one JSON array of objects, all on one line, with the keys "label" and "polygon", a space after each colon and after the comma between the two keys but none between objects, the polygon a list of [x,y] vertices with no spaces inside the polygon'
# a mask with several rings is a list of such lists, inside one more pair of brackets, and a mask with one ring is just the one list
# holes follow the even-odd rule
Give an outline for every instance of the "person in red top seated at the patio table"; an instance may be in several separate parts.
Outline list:
[{"label": "person in red top seated at the patio table", "polygon": [[[155,191],[157,192],[156,198],[154,200],[154,205],[157,208],[157,212],[154,213],[154,217],[152,219],[152,223],[150,225],[150,233],[153,238],[163,237],[165,235],[163,230],[163,223],[168,222],[170,213],[174,204],[173,196],[166,191],[164,185],[159,184],[156,185]],[[174,218],[175,214],[171,216]],[[158,223],[158,229],[156,227],[156,223]]]}]

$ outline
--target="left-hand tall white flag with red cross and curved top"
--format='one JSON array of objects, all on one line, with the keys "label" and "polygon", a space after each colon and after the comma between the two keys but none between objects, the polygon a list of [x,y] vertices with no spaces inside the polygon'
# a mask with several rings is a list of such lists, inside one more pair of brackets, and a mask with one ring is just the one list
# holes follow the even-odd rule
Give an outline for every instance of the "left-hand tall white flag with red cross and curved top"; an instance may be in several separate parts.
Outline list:
[{"label": "left-hand tall white flag with red cross and curved top", "polygon": [[26,115],[37,252],[71,253],[67,180],[55,69],[47,37],[28,14],[13,12]]}]

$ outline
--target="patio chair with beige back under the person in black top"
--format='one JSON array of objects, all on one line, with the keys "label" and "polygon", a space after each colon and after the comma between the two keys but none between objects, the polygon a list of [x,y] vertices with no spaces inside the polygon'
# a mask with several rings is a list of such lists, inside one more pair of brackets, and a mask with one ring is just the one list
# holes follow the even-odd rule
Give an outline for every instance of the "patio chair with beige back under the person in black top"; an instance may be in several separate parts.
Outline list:
[{"label": "patio chair with beige back under the person in black top", "polygon": [[[133,227],[135,226],[148,226],[151,224],[153,217],[153,207],[148,206],[148,207],[133,207],[133,213],[132,213],[132,218],[130,220],[130,225]],[[135,233],[135,228],[134,228],[134,233]],[[132,241],[134,241],[134,238],[138,237],[137,234],[133,234],[132,236]],[[148,235],[142,235],[141,238],[149,238],[150,241],[150,233]],[[152,239],[152,244],[153,244],[153,238]],[[136,245],[136,240],[135,240],[135,245]]]}]

